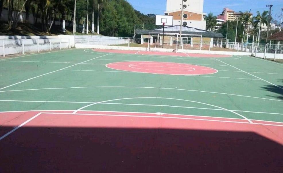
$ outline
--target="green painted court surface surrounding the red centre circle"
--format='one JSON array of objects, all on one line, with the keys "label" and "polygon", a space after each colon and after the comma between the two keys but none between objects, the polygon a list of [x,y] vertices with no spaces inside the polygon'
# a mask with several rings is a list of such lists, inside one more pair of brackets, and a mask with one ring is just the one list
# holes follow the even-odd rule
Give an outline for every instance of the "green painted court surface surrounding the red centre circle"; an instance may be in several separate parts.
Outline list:
[{"label": "green painted court surface surrounding the red centre circle", "polygon": [[[174,62],[206,75],[127,72],[106,64]],[[72,49],[0,60],[0,110],[168,113],[283,122],[283,64],[248,56],[194,58]],[[99,103],[102,102],[102,103]]]}]

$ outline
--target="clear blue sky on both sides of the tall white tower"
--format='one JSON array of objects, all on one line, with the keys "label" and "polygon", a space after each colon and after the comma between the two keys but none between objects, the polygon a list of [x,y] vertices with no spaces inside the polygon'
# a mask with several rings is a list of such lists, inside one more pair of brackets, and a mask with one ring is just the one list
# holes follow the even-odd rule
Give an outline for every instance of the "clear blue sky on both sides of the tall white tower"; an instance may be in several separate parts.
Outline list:
[{"label": "clear blue sky on both sides of the tall white tower", "polygon": [[[133,7],[142,13],[163,14],[166,10],[166,0],[127,0]],[[181,0],[175,0],[181,1]],[[283,0],[204,0],[204,13],[210,11],[214,15],[218,15],[223,11],[224,7],[233,9],[234,11],[256,11],[269,10],[265,5],[272,4],[272,16],[280,20],[281,8],[283,8]]]}]

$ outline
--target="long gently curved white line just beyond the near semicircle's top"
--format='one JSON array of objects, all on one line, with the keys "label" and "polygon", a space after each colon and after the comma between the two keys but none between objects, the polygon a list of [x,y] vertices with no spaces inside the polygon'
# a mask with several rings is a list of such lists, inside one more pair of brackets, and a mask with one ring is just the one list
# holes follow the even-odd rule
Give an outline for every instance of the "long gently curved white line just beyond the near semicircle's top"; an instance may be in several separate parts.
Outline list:
[{"label": "long gently curved white line just beyond the near semicircle's top", "polygon": [[264,100],[272,100],[272,101],[283,101],[283,100],[276,100],[276,99],[268,99],[262,97],[253,97],[253,96],[246,96],[246,95],[237,95],[237,94],[228,94],[228,93],[218,93],[212,91],[200,91],[200,90],[189,90],[189,89],[177,89],[177,88],[157,88],[157,87],[123,87],[123,86],[108,86],[108,87],[61,87],[61,88],[40,88],[40,89],[22,89],[22,90],[7,90],[7,91],[0,91],[2,92],[15,92],[15,91],[37,91],[37,90],[52,90],[52,89],[83,89],[83,88],[143,88],[143,89],[168,89],[168,90],[177,90],[177,91],[192,91],[192,92],[201,92],[201,93],[212,93],[212,94],[223,94],[223,95],[232,95],[232,96],[239,96],[239,97],[248,97],[253,99],[264,99]]}]

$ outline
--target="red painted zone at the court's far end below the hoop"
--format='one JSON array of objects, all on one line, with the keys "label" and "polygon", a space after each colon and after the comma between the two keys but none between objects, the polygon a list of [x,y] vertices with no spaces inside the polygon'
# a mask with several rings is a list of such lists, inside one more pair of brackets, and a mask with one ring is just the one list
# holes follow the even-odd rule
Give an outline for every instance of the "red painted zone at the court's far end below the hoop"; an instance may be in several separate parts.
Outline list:
[{"label": "red painted zone at the court's far end below the hoop", "polygon": [[180,53],[180,52],[150,52],[138,50],[114,50],[114,49],[93,49],[96,52],[114,53],[114,54],[139,54],[139,55],[162,55],[162,56],[180,56],[193,58],[228,58],[232,55],[218,54],[197,54],[197,53]]}]

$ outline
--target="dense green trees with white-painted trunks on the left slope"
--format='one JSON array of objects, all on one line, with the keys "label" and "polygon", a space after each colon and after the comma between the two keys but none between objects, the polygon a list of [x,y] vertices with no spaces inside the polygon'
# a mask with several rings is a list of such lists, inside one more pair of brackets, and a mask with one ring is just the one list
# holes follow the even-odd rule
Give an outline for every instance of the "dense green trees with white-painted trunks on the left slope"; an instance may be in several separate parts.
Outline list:
[{"label": "dense green trees with white-painted trunks on the left slope", "polygon": [[[98,30],[105,36],[132,37],[134,28],[136,29],[154,29],[155,15],[142,14],[136,11],[125,0],[0,0],[0,16],[3,9],[8,11],[8,21],[1,22],[1,34],[13,34],[23,25],[28,30],[37,28],[40,32],[34,31],[35,34],[51,34],[58,33],[60,27],[55,26],[55,21],[67,21],[67,30],[71,30],[74,18],[74,6],[76,2],[76,30],[82,31],[79,25],[89,25],[90,32]],[[18,11],[19,13],[15,13]],[[21,13],[26,14],[24,23],[19,24],[19,16]],[[34,24],[30,26],[28,16],[32,15]],[[87,15],[89,20],[87,20]],[[1,20],[1,18],[0,18]],[[94,27],[92,27],[92,24]],[[4,27],[5,26],[5,27]],[[4,30],[5,28],[5,30]],[[69,32],[67,32],[69,33]]]}]

